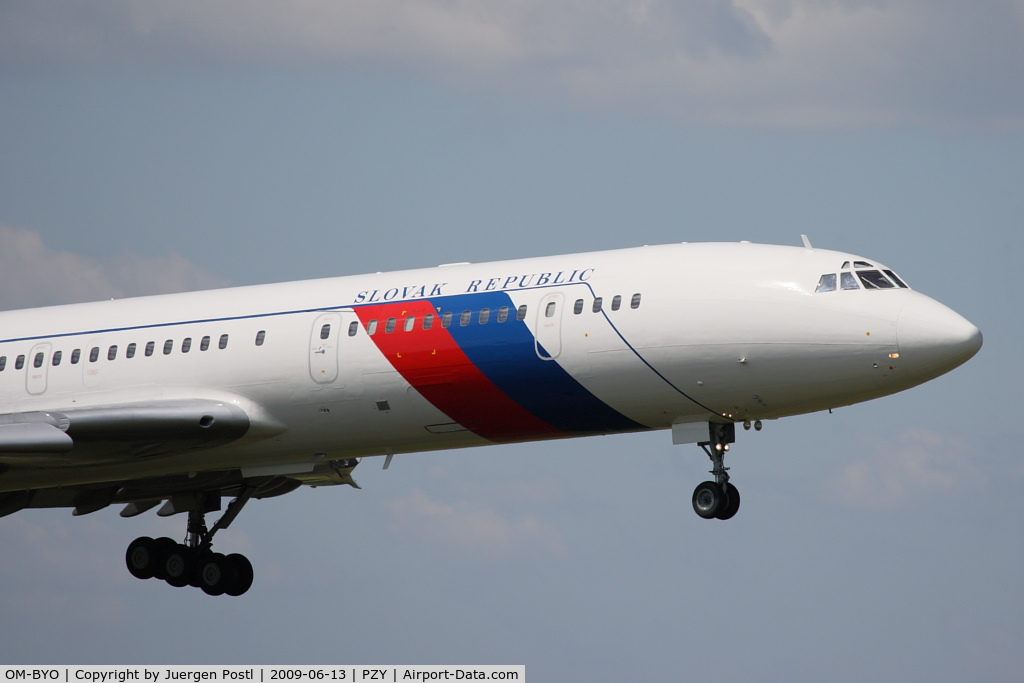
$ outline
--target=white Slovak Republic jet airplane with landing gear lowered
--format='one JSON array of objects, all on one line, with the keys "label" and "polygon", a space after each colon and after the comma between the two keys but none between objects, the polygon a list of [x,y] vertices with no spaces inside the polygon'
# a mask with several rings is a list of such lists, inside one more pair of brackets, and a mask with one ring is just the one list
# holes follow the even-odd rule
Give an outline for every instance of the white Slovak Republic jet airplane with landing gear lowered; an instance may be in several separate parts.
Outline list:
[{"label": "white Slovak Republic jet airplane with landing gear lowered", "polygon": [[[666,430],[739,508],[736,425],[913,387],[981,332],[873,259],[742,243],[645,246],[0,312],[0,516],[184,513],[136,578],[242,595],[213,552],[252,499],[358,487],[361,459]],[[212,526],[206,515],[222,509]]]}]

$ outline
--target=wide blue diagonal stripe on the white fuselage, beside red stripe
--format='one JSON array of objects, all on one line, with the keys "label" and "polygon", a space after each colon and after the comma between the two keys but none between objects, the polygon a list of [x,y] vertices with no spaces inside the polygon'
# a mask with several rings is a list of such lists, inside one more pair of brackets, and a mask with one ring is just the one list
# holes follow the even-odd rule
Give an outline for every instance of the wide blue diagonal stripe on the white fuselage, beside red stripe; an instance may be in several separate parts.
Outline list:
[{"label": "wide blue diagonal stripe on the white fuselage, beside red stripe", "polygon": [[[512,400],[551,426],[570,434],[646,429],[588,391],[555,360],[537,354],[534,335],[516,319],[512,299],[504,292],[481,292],[431,298],[439,312],[452,311],[447,331],[470,361]],[[505,323],[498,311],[509,307]],[[479,324],[481,308],[490,319]],[[472,311],[460,325],[462,311]]]}]

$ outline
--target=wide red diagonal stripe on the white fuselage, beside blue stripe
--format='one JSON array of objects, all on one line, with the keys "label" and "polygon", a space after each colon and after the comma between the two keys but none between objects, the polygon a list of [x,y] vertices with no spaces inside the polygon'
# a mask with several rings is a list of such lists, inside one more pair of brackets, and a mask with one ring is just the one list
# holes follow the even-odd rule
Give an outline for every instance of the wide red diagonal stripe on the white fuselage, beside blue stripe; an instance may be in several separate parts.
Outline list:
[{"label": "wide red diagonal stripe on the white fuselage, beside blue stripe", "polygon": [[[377,348],[406,381],[437,410],[490,441],[550,438],[563,435],[496,387],[441,327],[440,311],[429,301],[402,301],[355,308],[364,330],[377,321],[371,337]],[[423,329],[423,318],[433,314],[433,325]],[[406,319],[415,316],[413,330]],[[387,333],[388,318],[395,318]],[[459,325],[458,312],[453,321]],[[472,325],[472,323],[471,323]]]}]

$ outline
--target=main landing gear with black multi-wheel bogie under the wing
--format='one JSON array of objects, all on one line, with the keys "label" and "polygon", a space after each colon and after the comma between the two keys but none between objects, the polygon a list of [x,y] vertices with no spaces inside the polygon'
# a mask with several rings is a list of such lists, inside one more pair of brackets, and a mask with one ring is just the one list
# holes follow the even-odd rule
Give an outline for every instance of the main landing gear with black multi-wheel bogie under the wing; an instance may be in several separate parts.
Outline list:
[{"label": "main landing gear with black multi-wheel bogie under the wing", "polygon": [[[136,579],[162,579],[171,586],[193,586],[207,595],[242,595],[253,583],[253,565],[245,555],[213,552],[213,535],[242,511],[254,489],[244,490],[213,525],[206,527],[206,513],[220,509],[219,496],[197,497],[188,510],[186,544],[171,539],[140,537],[125,553],[128,571]],[[215,500],[214,500],[215,499]]]}]

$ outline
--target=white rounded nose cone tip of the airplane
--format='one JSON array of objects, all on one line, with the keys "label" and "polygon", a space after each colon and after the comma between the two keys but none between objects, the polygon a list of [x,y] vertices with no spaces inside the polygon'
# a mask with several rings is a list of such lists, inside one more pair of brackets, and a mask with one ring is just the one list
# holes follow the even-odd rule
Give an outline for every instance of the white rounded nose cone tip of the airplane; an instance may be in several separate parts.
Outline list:
[{"label": "white rounded nose cone tip of the airplane", "polygon": [[981,330],[938,301],[913,294],[896,323],[896,345],[906,369],[925,381],[970,360],[981,348]]}]

